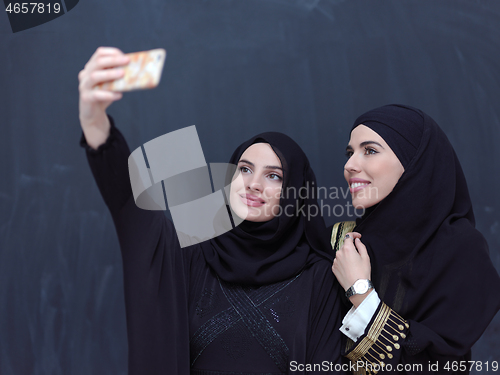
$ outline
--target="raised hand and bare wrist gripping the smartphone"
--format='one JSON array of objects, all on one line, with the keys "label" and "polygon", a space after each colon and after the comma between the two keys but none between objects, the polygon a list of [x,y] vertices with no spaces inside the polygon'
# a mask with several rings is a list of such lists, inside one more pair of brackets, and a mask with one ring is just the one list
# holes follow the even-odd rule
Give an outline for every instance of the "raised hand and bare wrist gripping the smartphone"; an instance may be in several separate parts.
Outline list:
[{"label": "raised hand and bare wrist gripping the smartphone", "polygon": [[80,124],[87,144],[94,149],[106,142],[109,136],[106,108],[122,98],[122,93],[95,89],[95,86],[123,77],[121,67],[128,62],[129,58],[119,49],[99,47],[78,74]]}]

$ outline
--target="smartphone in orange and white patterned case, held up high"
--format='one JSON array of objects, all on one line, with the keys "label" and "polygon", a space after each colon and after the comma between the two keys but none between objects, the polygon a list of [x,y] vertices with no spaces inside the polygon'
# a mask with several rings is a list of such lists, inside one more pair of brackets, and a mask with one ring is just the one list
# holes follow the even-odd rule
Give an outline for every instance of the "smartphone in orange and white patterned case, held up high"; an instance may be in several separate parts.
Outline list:
[{"label": "smartphone in orange and white patterned case, held up high", "polygon": [[123,67],[125,75],[96,87],[110,91],[132,91],[152,89],[160,83],[167,51],[163,48],[126,54],[130,62]]}]

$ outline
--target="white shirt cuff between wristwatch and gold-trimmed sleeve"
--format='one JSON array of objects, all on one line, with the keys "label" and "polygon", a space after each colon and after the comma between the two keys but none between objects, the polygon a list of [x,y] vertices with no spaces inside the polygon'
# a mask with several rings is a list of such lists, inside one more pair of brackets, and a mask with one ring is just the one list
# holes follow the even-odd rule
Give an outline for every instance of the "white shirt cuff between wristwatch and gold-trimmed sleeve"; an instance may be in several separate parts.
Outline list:
[{"label": "white shirt cuff between wristwatch and gold-trimmed sleeve", "polygon": [[342,320],[342,327],[339,328],[340,332],[352,341],[358,341],[359,337],[365,332],[368,323],[372,320],[373,314],[377,311],[379,304],[380,298],[375,289],[373,289],[358,308],[351,307]]}]

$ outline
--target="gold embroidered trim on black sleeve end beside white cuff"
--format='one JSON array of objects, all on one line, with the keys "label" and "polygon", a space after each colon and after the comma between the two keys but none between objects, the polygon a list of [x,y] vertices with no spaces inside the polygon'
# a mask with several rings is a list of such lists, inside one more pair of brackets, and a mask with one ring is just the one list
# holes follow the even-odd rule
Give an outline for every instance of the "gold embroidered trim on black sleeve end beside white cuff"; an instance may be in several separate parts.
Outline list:
[{"label": "gold embroidered trim on black sleeve end beside white cuff", "polygon": [[[346,355],[352,362],[371,366],[371,369],[385,366],[385,359],[394,358],[394,350],[401,348],[397,343],[406,338],[405,328],[410,326],[395,311],[382,302],[380,310],[371,324],[366,336]],[[376,374],[376,370],[367,369],[366,373]]]}]

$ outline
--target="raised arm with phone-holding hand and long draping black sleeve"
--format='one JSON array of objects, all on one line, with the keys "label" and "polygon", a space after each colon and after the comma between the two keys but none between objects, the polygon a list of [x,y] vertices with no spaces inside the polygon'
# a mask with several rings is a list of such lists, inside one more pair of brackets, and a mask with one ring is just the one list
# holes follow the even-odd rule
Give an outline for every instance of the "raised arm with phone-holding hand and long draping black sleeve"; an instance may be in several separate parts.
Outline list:
[{"label": "raised arm with phone-holding hand and long draping black sleeve", "polygon": [[[96,84],[123,75],[127,62],[115,48],[98,48],[79,74],[81,146],[108,206],[120,242],[131,374],[156,374],[159,369],[189,373],[187,358],[159,355],[187,353],[188,250],[181,251],[174,226],[161,211],[137,207],[129,178],[130,149],[106,115],[121,94],[94,89]],[[182,320],[181,320],[182,321]],[[170,322],[174,322],[170,324]]]}]

